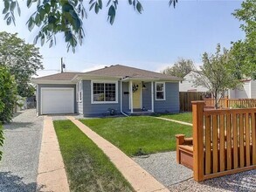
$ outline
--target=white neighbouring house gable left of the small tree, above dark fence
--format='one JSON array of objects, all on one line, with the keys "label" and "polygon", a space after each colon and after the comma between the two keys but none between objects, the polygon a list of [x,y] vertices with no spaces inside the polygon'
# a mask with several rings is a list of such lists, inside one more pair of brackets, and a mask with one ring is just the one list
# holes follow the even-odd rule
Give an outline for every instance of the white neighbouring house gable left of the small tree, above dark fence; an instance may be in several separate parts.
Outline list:
[{"label": "white neighbouring house gable left of the small tree, above dark fence", "polygon": [[204,86],[195,86],[194,81],[198,76],[197,72],[189,72],[183,77],[183,80],[179,83],[180,92],[208,92],[208,89]]}]

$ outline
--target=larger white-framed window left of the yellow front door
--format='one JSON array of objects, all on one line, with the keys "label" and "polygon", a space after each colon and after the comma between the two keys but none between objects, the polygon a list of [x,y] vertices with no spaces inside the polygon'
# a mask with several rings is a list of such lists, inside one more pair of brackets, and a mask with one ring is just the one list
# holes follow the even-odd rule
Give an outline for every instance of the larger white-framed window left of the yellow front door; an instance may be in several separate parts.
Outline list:
[{"label": "larger white-framed window left of the yellow front door", "polygon": [[92,103],[117,103],[117,83],[93,82]]}]

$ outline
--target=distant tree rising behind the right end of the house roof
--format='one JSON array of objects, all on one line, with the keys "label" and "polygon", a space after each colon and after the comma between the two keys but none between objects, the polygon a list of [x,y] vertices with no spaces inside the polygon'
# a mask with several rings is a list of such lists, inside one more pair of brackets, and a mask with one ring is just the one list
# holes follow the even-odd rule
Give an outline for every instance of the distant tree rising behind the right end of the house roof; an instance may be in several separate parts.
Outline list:
[{"label": "distant tree rising behind the right end of the house roof", "polygon": [[167,67],[162,73],[183,78],[190,71],[194,70],[194,68],[191,59],[179,58],[173,66]]}]

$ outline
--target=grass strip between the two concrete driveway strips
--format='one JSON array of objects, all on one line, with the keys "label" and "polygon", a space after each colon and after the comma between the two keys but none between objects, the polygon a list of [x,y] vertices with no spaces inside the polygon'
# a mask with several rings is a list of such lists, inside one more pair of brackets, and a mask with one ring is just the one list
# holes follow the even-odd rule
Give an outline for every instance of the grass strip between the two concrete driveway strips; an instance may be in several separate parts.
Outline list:
[{"label": "grass strip between the two concrete driveway strips", "polygon": [[111,161],[70,120],[54,127],[71,191],[133,191]]}]

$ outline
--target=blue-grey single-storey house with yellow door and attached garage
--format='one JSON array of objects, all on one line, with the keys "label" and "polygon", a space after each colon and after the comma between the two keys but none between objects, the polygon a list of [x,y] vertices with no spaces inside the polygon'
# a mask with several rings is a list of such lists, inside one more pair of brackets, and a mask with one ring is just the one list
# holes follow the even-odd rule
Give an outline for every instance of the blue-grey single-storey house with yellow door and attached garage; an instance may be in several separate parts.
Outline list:
[{"label": "blue-grey single-storey house with yellow door and attached garage", "polygon": [[62,72],[38,79],[37,113],[178,113],[181,79],[124,65]]}]

